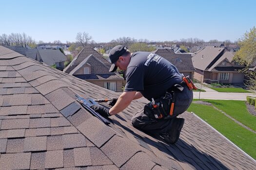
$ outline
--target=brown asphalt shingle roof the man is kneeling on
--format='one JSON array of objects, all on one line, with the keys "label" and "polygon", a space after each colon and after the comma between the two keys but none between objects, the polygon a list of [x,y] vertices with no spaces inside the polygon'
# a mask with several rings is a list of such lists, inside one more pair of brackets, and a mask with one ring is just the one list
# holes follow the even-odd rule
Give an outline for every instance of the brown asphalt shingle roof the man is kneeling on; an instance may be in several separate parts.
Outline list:
[{"label": "brown asphalt shingle roof the man is kneeling on", "polygon": [[255,170],[255,160],[194,114],[180,115],[180,139],[167,145],[131,125],[142,101],[106,126],[79,107],[75,95],[105,99],[118,93],[1,46],[0,67],[1,170]]}]

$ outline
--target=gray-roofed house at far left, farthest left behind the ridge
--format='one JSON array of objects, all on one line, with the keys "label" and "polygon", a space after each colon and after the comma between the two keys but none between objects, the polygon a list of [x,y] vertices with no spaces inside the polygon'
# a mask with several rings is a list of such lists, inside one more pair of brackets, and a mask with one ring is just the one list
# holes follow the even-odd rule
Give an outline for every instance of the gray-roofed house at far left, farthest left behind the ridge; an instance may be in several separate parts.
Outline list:
[{"label": "gray-roofed house at far left, farthest left behind the ridge", "polygon": [[37,58],[37,49],[31,49],[26,44],[24,46],[5,46],[6,48],[16,51],[24,56],[27,56],[33,60]]}]

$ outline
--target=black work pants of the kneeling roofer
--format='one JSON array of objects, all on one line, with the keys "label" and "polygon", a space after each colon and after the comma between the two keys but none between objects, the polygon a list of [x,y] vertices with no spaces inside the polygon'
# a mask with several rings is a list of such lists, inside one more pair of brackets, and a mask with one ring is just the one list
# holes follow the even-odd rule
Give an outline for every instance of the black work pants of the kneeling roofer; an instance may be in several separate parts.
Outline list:
[{"label": "black work pants of the kneeling roofer", "polygon": [[152,117],[148,117],[148,114],[145,114],[145,110],[142,109],[133,116],[132,125],[139,130],[154,135],[170,132],[172,129],[172,123],[175,121],[173,118],[185,112],[193,100],[193,91],[189,90],[187,86],[184,87],[183,91],[175,90],[174,93],[174,116],[171,119],[154,119]]}]

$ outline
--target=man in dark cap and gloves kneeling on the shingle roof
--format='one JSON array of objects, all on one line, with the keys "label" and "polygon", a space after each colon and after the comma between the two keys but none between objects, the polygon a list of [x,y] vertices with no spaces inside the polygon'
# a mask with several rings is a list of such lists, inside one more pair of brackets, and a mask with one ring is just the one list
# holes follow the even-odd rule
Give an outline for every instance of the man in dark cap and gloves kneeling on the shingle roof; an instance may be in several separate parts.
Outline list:
[{"label": "man in dark cap and gloves kneeling on the shingle roof", "polygon": [[184,82],[186,77],[173,64],[154,53],[131,53],[118,45],[110,51],[109,59],[112,64],[110,72],[117,68],[126,70],[124,92],[112,102],[114,106],[110,110],[101,105],[92,108],[108,117],[143,96],[151,102],[133,116],[132,125],[168,144],[176,143],[184,124],[184,119],[177,116],[186,111],[193,99],[192,89],[188,86],[191,80],[187,78]]}]

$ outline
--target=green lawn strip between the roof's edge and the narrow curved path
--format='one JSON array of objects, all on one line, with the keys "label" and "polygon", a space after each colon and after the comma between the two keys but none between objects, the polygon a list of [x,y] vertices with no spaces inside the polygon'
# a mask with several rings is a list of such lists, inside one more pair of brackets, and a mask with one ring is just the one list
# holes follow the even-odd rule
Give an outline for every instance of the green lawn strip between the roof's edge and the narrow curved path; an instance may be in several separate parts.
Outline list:
[{"label": "green lawn strip between the roof's edge and the narrow curved path", "polygon": [[188,111],[194,112],[244,152],[256,159],[256,134],[238,125],[212,106],[192,103]]}]

